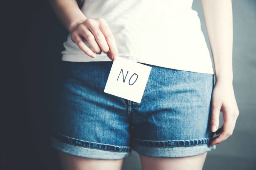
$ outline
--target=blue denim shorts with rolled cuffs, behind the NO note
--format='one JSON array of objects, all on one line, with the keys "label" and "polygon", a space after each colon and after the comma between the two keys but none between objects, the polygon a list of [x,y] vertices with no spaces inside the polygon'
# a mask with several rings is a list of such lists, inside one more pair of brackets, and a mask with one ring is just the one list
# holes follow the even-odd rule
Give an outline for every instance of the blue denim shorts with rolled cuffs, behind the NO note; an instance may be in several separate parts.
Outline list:
[{"label": "blue denim shorts with rolled cuffs, behind the NO note", "polygon": [[51,147],[80,157],[187,157],[210,146],[214,74],[158,67],[141,103],[104,93],[113,61],[62,61]]}]

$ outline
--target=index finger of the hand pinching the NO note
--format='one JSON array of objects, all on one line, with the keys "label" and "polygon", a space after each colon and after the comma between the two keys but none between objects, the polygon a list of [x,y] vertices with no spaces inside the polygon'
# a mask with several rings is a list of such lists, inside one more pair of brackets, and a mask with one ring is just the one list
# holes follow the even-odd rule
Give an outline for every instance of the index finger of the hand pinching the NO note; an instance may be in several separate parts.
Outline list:
[{"label": "index finger of the hand pinching the NO note", "polygon": [[115,38],[105,20],[103,20],[103,22],[100,22],[99,28],[108,43],[109,52],[107,53],[107,55],[112,60],[115,60],[114,55],[118,54],[117,47],[116,47],[116,41],[115,41]]}]

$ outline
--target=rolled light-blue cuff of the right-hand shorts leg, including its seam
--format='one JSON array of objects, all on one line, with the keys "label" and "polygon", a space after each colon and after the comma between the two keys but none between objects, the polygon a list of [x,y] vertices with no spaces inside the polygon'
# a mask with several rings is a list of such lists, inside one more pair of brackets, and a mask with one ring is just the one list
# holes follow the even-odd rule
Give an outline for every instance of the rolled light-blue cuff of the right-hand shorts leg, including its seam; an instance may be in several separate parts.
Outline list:
[{"label": "rolled light-blue cuff of the right-hand shorts leg, including its seam", "polygon": [[209,145],[210,138],[172,141],[138,140],[133,149],[150,157],[187,157],[211,151],[216,145]]}]

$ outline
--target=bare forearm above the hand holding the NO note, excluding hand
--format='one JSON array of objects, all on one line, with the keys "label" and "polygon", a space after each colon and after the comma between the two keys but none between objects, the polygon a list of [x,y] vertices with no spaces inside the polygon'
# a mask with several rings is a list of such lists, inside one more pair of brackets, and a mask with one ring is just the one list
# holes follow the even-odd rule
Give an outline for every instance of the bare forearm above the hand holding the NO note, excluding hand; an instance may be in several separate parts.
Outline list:
[{"label": "bare forearm above the hand holding the NO note, excluding hand", "polygon": [[64,27],[71,32],[77,23],[82,23],[87,18],[79,9],[76,0],[48,0],[53,11]]}]

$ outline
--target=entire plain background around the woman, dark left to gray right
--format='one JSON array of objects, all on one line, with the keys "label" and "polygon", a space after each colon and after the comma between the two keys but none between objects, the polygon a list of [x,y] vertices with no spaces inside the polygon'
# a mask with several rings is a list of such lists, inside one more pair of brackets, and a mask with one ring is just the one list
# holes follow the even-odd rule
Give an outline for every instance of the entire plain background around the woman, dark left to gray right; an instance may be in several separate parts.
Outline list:
[{"label": "entire plain background around the woman, dark left to gray right", "polygon": [[[256,1],[233,0],[233,86],[240,115],[233,135],[208,152],[204,170],[256,169]],[[208,48],[201,2],[194,0]],[[0,1],[1,111],[0,169],[60,170],[50,147],[60,52],[68,31],[47,0]],[[223,124],[220,115],[220,127]],[[133,162],[133,163],[132,163]],[[137,152],[124,170],[140,170]]]}]

